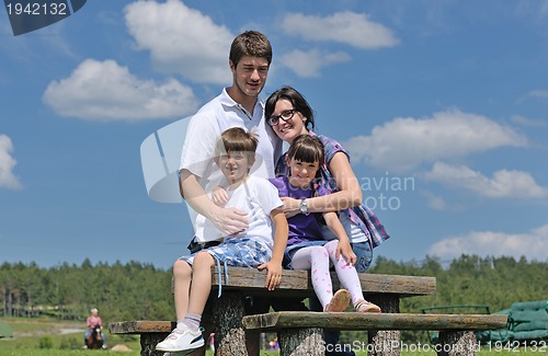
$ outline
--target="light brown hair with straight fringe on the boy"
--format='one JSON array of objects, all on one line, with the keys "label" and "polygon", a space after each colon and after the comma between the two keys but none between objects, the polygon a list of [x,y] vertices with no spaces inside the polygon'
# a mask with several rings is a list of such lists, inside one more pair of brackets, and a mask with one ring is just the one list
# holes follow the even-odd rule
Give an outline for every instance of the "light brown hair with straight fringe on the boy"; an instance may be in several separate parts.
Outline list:
[{"label": "light brown hair with straight fringe on the boy", "polygon": [[254,160],[258,145],[256,135],[247,133],[241,127],[232,127],[220,134],[215,147],[215,157],[218,158],[231,152],[243,152],[248,156],[248,160]]}]

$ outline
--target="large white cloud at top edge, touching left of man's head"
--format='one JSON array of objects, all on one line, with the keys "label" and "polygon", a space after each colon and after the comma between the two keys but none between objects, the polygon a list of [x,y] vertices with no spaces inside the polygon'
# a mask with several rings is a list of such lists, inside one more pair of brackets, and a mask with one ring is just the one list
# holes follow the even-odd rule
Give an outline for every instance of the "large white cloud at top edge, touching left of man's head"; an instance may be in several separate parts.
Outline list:
[{"label": "large white cloud at top edge, touching left of man's head", "polygon": [[235,35],[179,0],[137,1],[125,8],[126,26],[155,67],[195,82],[231,80],[228,54]]}]

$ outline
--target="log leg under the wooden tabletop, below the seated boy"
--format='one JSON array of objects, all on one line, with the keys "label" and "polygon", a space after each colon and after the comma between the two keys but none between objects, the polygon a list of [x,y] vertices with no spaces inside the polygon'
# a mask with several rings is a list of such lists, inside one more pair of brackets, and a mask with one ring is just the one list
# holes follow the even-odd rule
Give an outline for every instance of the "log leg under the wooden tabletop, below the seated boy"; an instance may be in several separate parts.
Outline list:
[{"label": "log leg under the wooden tabletop, below the seated boy", "polygon": [[215,355],[247,356],[246,333],[241,324],[244,315],[243,297],[239,292],[222,290],[213,306]]}]

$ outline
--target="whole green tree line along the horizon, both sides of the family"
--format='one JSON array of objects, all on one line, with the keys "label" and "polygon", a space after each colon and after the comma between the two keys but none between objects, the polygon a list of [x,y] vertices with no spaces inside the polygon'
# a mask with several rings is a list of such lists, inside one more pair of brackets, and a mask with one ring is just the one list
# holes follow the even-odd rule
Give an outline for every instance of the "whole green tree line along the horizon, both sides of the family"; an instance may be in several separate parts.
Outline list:
[{"label": "whole green tree line along the horizon, both sides of the family", "polygon": [[[401,312],[454,305],[488,305],[491,312],[515,301],[548,298],[547,262],[525,257],[461,255],[443,266],[435,257],[403,263],[377,257],[370,273],[434,276],[432,296],[404,298]],[[35,263],[0,266],[0,317],[53,315],[85,320],[93,307],[104,323],[122,320],[174,319],[171,269],[151,264],[116,262],[61,264],[44,268]]]}]

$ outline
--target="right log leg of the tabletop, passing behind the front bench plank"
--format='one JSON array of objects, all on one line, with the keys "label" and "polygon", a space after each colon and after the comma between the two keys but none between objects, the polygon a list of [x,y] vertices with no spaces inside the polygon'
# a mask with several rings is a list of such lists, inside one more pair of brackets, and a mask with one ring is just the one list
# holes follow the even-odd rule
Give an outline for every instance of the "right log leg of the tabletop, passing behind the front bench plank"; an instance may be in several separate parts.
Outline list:
[{"label": "right log leg of the tabletop, passing behind the front bench plank", "polygon": [[[370,296],[369,300],[380,307],[384,313],[399,313],[400,299],[392,296]],[[398,330],[369,330],[369,356],[399,356],[400,332]]]}]

